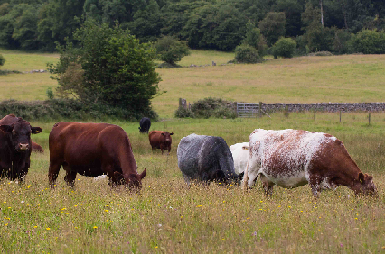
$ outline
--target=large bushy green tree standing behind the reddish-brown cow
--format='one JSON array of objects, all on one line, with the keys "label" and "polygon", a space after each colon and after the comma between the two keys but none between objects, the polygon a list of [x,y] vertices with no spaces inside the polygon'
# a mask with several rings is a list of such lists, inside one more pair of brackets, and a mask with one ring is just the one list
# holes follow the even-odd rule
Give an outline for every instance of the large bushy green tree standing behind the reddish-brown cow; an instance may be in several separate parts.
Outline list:
[{"label": "large bushy green tree standing behind the reddish-brown cow", "polygon": [[[135,113],[151,110],[150,100],[161,79],[155,72],[155,49],[150,44],[139,43],[118,24],[110,28],[108,23],[98,25],[91,20],[81,24],[73,37],[80,47],[70,42],[58,46],[61,58],[50,66],[62,88],[68,85],[76,93],[72,85],[77,83],[81,91],[77,96],[85,103],[98,102]],[[81,68],[74,68],[77,65]],[[66,75],[74,69],[81,69],[75,72],[77,82]]]}]

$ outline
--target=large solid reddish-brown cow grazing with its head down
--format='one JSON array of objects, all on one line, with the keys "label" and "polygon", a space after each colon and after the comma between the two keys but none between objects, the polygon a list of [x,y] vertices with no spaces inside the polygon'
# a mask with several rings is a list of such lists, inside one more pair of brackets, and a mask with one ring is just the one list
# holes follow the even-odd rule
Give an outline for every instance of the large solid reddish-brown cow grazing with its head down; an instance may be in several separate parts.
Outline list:
[{"label": "large solid reddish-brown cow grazing with its head down", "polygon": [[76,174],[86,177],[107,175],[112,186],[141,188],[146,176],[136,171],[136,162],[127,133],[108,123],[59,122],[53,125],[49,137],[50,186],[53,187],[61,166],[64,180],[74,186]]}]

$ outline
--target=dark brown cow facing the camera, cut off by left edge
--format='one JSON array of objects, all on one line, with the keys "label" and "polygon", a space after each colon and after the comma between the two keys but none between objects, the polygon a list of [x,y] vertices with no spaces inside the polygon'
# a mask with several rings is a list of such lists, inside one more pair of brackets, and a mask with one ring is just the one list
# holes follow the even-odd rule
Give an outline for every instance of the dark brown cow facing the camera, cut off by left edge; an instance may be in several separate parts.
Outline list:
[{"label": "dark brown cow facing the camera, cut off by left edge", "polygon": [[0,120],[0,177],[23,183],[31,165],[31,134],[40,132],[42,128],[14,114]]}]

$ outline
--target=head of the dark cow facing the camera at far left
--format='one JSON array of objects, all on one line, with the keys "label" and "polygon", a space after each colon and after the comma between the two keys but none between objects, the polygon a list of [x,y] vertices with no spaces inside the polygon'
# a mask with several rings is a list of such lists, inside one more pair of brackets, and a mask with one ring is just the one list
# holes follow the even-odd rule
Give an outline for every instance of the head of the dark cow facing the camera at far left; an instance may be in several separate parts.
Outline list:
[{"label": "head of the dark cow facing the camera at far left", "polygon": [[23,119],[14,122],[12,125],[0,125],[0,130],[11,135],[14,150],[18,152],[31,150],[31,134],[42,132],[42,128],[31,127],[29,122]]}]

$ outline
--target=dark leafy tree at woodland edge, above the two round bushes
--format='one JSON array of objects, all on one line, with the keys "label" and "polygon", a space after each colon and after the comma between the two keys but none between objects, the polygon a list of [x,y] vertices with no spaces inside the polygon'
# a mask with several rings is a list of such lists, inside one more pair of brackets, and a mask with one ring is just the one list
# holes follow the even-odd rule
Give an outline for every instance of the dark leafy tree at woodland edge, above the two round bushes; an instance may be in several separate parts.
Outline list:
[{"label": "dark leafy tree at woodland edge, above the two round bushes", "polygon": [[278,41],[279,37],[285,36],[285,25],[285,13],[270,12],[259,22],[260,32],[265,36],[269,47]]}]

